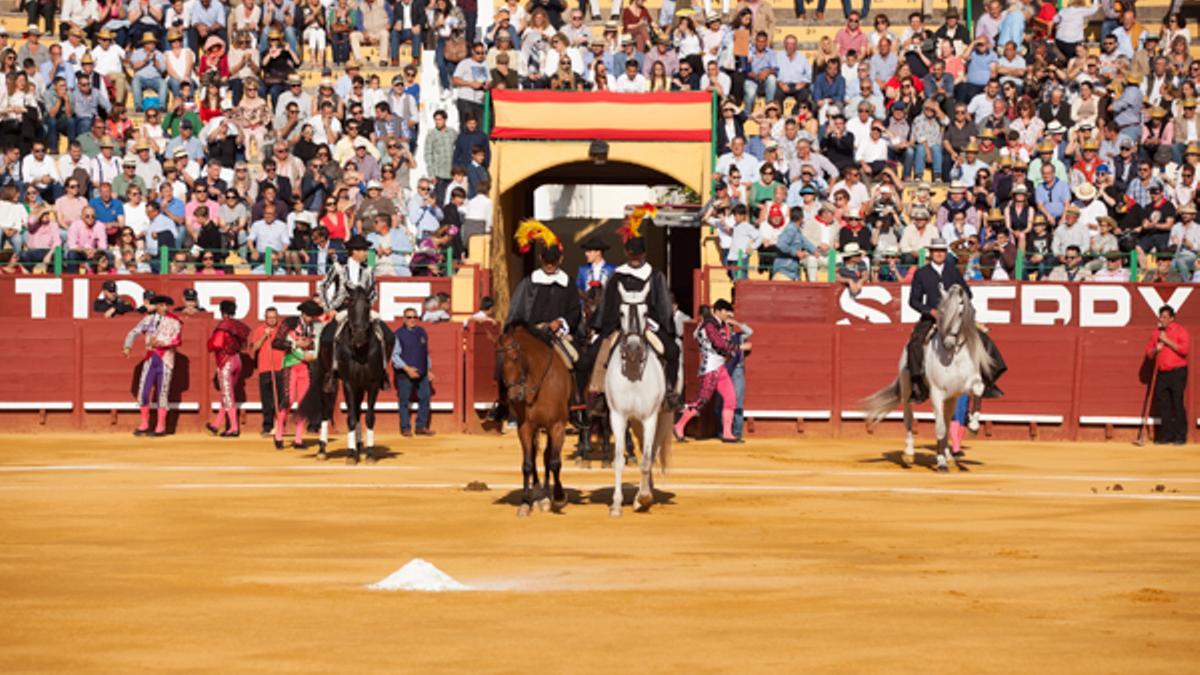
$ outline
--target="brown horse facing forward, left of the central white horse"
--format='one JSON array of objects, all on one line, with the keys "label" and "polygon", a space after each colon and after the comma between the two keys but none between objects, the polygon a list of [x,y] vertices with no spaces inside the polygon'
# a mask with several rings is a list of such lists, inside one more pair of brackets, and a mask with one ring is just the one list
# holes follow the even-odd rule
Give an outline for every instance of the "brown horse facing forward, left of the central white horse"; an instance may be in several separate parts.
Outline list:
[{"label": "brown horse facing forward, left of the central white horse", "polygon": [[[566,435],[571,400],[571,371],[554,352],[548,333],[523,324],[505,328],[496,348],[500,354],[500,376],[508,390],[509,410],[517,420],[521,437],[522,494],[518,516],[533,508],[533,488],[538,485],[538,432],[545,431],[546,485],[538,500],[541,510],[558,510],[566,503],[563,480],[563,442]],[[551,489],[553,478],[553,492]]]}]

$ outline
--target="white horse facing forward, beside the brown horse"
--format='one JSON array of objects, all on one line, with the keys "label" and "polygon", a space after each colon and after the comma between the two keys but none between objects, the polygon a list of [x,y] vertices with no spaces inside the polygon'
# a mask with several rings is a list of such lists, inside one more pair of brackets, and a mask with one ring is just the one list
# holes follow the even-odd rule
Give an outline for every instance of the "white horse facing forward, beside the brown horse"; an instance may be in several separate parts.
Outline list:
[{"label": "white horse facing forward, beside the brown horse", "polygon": [[625,429],[630,422],[641,430],[642,484],[634,500],[636,510],[644,510],[654,503],[654,458],[665,472],[671,453],[671,411],[662,408],[666,395],[666,374],[662,362],[650,346],[646,333],[646,297],[650,285],[640,292],[620,292],[620,335],[608,357],[608,371],[604,388],[608,401],[608,422],[617,441],[613,453],[613,492],[608,514],[620,516],[624,495],[620,474],[625,468]]}]

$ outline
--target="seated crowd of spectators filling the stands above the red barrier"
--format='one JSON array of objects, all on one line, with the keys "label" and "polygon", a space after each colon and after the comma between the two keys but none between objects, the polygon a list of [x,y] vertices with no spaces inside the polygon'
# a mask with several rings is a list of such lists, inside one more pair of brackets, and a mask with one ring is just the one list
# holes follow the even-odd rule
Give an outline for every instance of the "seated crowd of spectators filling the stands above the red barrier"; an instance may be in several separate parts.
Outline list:
[{"label": "seated crowd of spectators filling the stands above the red barrier", "polygon": [[29,0],[0,31],[0,271],[320,274],[362,233],[382,275],[446,274],[491,228],[487,91],[521,88],[715,91],[734,275],[902,280],[943,238],[976,279],[1192,280],[1180,14],[847,2],[808,49],[767,0],[683,5]]}]

